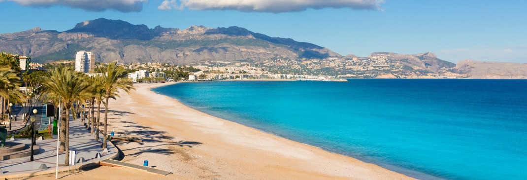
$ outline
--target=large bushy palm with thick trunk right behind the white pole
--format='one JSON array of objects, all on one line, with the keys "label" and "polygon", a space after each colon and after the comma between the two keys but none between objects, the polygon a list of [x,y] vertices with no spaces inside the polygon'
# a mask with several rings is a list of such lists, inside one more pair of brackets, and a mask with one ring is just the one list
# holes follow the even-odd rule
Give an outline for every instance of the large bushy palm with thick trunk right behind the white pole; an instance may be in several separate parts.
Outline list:
[{"label": "large bushy palm with thick trunk right behind the white pole", "polygon": [[[64,118],[61,119],[60,133],[61,146],[59,150],[69,151],[70,144],[70,110],[73,102],[80,100],[84,96],[87,87],[90,84],[85,80],[85,75],[81,72],[76,72],[73,68],[59,66],[48,72],[43,81],[43,95],[53,94],[53,96],[60,96],[61,103],[65,111]],[[68,164],[69,154],[66,153],[64,164]]]}]

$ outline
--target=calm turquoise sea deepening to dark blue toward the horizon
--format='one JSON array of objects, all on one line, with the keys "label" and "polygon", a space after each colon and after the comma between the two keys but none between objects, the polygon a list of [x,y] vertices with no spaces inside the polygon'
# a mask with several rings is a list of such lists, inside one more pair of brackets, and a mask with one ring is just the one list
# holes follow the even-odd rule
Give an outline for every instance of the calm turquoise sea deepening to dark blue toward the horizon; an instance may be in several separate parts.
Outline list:
[{"label": "calm turquoise sea deepening to dark blue toward the horizon", "polygon": [[527,179],[527,80],[216,81],[154,91],[413,177]]}]

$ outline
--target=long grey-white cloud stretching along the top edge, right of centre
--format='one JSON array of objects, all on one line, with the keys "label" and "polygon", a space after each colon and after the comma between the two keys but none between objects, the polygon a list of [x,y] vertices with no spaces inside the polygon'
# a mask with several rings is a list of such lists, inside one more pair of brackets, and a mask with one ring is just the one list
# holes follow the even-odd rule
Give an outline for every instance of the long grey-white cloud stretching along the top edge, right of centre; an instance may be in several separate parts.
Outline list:
[{"label": "long grey-white cloud stretching along the top edge, right of centre", "polygon": [[[384,0],[180,0],[181,7],[191,10],[237,10],[242,12],[297,12],[308,8],[351,8],[382,10]],[[165,2],[163,2],[165,3]]]}]

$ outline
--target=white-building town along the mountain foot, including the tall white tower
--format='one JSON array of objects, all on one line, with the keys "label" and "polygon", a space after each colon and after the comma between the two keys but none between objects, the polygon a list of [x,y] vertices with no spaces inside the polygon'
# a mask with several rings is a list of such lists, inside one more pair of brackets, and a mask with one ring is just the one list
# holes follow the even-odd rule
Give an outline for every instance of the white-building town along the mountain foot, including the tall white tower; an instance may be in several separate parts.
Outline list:
[{"label": "white-building town along the mountain foot, including the tall white tower", "polygon": [[[72,65],[90,76],[99,74],[105,64],[88,51],[78,51],[75,60],[51,63],[28,63],[29,69],[45,70],[59,64]],[[372,54],[366,58],[327,58],[292,60],[275,56],[265,61],[233,62],[208,60],[188,65],[162,62],[119,63],[128,71],[133,83],[212,80],[338,80],[350,78],[466,78],[454,68],[440,67],[435,72],[395,61],[389,54]]]}]

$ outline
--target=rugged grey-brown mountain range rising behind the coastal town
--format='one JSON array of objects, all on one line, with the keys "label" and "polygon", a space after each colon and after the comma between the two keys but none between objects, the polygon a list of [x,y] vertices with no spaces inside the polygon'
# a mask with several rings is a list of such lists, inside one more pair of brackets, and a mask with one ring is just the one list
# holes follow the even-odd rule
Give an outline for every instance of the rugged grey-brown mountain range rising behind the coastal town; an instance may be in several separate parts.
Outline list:
[{"label": "rugged grey-brown mountain range rising behind the coastal town", "polygon": [[[261,62],[277,56],[289,60],[368,59],[353,54],[343,56],[315,44],[270,37],[237,26],[211,28],[194,25],[184,30],[156,26],[149,29],[146,25],[99,18],[77,23],[73,29],[64,32],[35,27],[23,32],[0,34],[0,51],[31,56],[33,62],[74,59],[75,52],[80,50],[94,52],[95,59],[100,62],[121,63],[190,64],[210,60]],[[405,67],[423,73],[454,69],[457,73],[474,74],[474,77],[527,77],[524,66],[476,61],[463,61],[462,65],[456,65],[438,59],[432,53],[374,54],[385,54],[390,61],[401,62]],[[509,68],[488,68],[496,65]],[[494,75],[487,75],[490,71]]]}]

